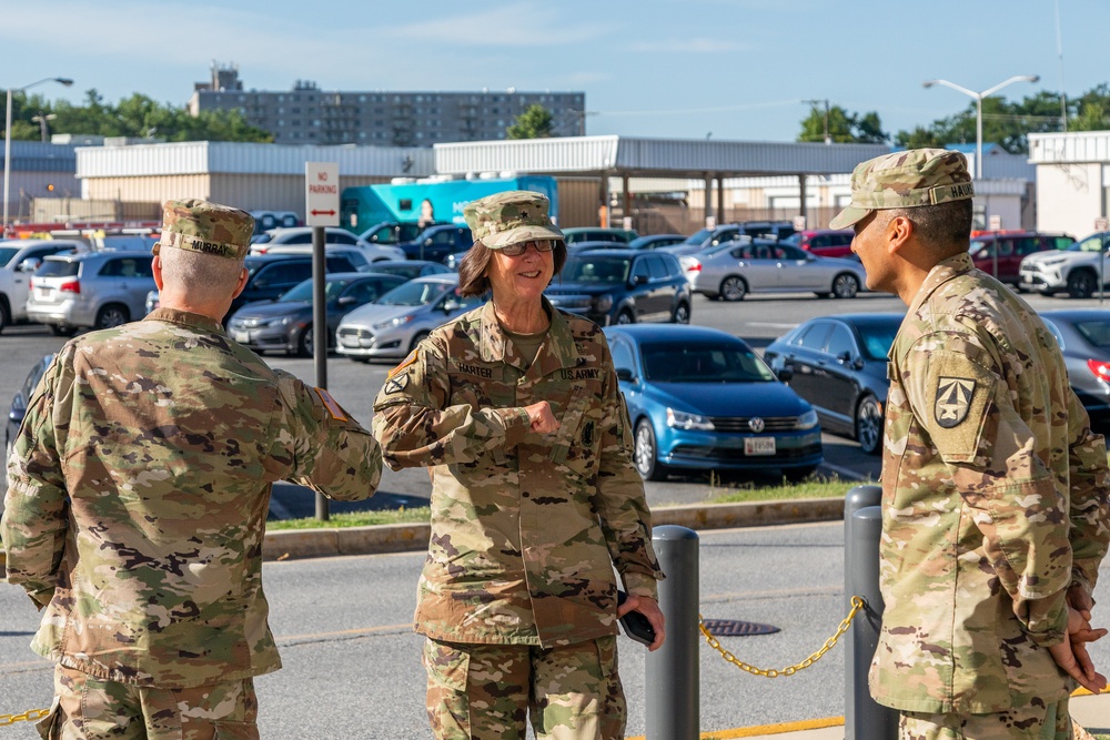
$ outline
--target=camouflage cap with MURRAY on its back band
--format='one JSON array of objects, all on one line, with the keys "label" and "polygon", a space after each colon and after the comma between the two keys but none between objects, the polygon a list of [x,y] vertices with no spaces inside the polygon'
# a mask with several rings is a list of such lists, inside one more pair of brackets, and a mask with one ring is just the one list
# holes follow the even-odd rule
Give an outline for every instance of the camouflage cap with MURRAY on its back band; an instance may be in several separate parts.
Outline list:
[{"label": "camouflage cap with MURRAY on its back band", "polygon": [[251,247],[254,217],[245,211],[199,199],[162,204],[162,236],[154,244],[243,260]]}]

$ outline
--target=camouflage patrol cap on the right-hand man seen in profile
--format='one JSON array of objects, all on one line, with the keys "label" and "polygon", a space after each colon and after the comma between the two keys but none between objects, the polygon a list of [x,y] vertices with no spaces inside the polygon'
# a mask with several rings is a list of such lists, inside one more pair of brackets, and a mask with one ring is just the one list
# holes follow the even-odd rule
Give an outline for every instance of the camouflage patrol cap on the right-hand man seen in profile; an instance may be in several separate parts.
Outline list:
[{"label": "camouflage patrol cap on the right-hand man seen in profile", "polygon": [[871,211],[912,209],[961,201],[975,195],[967,159],[947,149],[910,149],[856,165],[851,204],[829,229],[847,229]]}]

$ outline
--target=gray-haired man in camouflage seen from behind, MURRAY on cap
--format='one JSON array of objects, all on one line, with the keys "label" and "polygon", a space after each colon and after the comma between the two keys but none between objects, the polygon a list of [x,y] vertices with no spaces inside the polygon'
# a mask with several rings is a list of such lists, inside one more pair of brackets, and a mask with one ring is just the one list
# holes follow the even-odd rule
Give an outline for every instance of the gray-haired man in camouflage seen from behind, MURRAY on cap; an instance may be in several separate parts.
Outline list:
[{"label": "gray-haired man in camouflage seen from behind, MURRAY on cap", "polygon": [[252,231],[243,211],[167,202],[161,307],[69,342],[28,405],[2,536],[9,582],[44,609],[31,647],[57,661],[44,738],[256,738],[253,677],[281,667],[262,591],[271,484],[377,487],[370,433],[219,323]]}]

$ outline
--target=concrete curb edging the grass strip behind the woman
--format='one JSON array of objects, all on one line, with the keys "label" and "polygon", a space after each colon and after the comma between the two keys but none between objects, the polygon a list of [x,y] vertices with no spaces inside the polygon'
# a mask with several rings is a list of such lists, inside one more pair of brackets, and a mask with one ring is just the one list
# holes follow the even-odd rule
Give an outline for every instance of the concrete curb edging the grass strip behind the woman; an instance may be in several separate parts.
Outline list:
[{"label": "concrete curb edging the grass strip behind the woman", "polygon": [[[798,498],[748,504],[704,504],[652,509],[655,526],[677,525],[694,530],[764,527],[844,518],[844,498]],[[268,531],[262,544],[265,560],[376,555],[423,550],[432,536],[427,524],[391,524],[372,527],[285,529]]]}]

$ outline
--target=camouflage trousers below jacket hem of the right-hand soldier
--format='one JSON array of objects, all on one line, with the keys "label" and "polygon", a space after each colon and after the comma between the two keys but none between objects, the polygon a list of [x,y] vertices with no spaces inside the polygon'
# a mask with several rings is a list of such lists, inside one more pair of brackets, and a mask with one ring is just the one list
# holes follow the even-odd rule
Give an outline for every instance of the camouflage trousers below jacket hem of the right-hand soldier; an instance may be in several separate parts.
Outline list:
[{"label": "camouflage trousers below jacket hem of the right-hand soldier", "polygon": [[1068,699],[990,714],[901,713],[898,740],[1071,740]]}]

